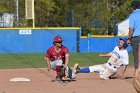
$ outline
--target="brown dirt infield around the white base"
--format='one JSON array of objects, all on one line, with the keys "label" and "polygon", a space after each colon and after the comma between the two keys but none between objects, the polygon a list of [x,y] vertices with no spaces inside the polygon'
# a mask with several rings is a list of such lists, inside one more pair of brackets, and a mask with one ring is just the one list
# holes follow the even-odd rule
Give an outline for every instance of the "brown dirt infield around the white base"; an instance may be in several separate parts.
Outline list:
[{"label": "brown dirt infield around the white base", "polygon": [[[113,77],[101,80],[96,73],[78,74],[69,83],[51,82],[53,71],[45,68],[0,69],[0,93],[136,93],[132,86],[132,67],[126,72],[126,79]],[[25,77],[30,82],[10,82],[11,78]]]}]

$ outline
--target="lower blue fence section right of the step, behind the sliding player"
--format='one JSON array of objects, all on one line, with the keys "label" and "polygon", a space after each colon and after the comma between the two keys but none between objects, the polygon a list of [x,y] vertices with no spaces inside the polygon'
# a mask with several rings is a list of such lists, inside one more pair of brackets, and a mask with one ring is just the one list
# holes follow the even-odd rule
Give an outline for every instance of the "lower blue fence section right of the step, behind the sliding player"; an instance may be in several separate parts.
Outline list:
[{"label": "lower blue fence section right of the step, behind the sliding player", "polygon": [[[80,39],[80,52],[111,52],[122,37],[91,37]],[[131,46],[127,47],[132,51]]]}]

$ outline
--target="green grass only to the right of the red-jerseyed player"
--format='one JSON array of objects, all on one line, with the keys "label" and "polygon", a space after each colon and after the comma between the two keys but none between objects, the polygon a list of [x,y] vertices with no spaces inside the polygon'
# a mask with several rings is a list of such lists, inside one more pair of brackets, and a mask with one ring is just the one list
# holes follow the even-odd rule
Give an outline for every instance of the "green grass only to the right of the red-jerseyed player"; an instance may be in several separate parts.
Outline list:
[{"label": "green grass only to the right of the red-jerseyed player", "polygon": [[[102,64],[108,61],[109,57],[99,57],[100,53],[72,53],[70,66],[78,62],[80,66],[90,66],[95,64]],[[133,66],[133,55],[129,53],[129,65]]]}]

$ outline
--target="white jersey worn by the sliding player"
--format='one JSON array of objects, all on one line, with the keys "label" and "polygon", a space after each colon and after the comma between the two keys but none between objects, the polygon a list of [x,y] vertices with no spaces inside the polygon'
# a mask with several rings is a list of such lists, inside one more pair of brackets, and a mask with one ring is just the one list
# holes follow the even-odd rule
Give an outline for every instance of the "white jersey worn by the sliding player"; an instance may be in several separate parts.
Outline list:
[{"label": "white jersey worn by the sliding player", "polygon": [[[112,51],[112,56],[108,60],[108,63],[112,63],[113,65],[120,67],[121,65],[128,65],[129,64],[129,57],[127,50],[120,50],[118,46],[114,48]],[[114,62],[114,63],[113,63]]]}]

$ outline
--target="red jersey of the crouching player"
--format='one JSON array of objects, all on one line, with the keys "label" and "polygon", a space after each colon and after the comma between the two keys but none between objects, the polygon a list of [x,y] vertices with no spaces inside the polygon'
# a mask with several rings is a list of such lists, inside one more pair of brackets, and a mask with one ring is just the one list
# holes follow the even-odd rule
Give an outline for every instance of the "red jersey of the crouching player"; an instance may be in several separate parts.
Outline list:
[{"label": "red jersey of the crouching player", "polygon": [[68,48],[62,46],[58,51],[56,51],[55,47],[52,46],[48,49],[46,53],[46,59],[50,59],[51,61],[62,59],[63,64],[65,64],[65,57],[69,54]]}]

